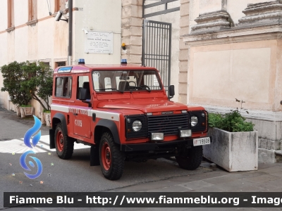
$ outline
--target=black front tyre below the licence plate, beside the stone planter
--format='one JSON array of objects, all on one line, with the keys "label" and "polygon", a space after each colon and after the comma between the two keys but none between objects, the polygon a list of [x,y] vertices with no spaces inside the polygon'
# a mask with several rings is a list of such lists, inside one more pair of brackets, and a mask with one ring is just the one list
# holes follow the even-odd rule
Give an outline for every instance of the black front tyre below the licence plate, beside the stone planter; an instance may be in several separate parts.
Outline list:
[{"label": "black front tyre below the licence plate, beside the stone planter", "polygon": [[202,146],[192,146],[185,155],[176,156],[178,165],[185,170],[195,170],[202,162]]}]

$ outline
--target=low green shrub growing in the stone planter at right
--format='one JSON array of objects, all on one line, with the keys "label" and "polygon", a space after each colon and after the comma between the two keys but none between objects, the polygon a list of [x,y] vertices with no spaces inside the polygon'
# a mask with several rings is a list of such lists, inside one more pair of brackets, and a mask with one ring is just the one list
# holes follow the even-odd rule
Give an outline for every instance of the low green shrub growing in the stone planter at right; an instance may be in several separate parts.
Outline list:
[{"label": "low green shrub growing in the stone planter at right", "polygon": [[209,113],[209,127],[217,127],[228,132],[254,131],[255,124],[245,122],[245,120],[245,117],[238,110],[233,110],[233,112],[226,115]]}]

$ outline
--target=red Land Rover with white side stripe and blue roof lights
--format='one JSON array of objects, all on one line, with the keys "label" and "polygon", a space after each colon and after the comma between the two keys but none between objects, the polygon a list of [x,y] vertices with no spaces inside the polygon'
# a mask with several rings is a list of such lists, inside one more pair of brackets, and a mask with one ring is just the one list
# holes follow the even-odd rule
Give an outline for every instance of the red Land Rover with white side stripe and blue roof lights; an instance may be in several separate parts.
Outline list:
[{"label": "red Land Rover with white side stripe and blue roof lights", "polygon": [[170,101],[159,71],[140,65],[78,65],[54,70],[50,148],[59,158],[74,142],[90,145],[90,165],[120,179],[125,160],[176,157],[185,170],[202,161],[207,111]]}]

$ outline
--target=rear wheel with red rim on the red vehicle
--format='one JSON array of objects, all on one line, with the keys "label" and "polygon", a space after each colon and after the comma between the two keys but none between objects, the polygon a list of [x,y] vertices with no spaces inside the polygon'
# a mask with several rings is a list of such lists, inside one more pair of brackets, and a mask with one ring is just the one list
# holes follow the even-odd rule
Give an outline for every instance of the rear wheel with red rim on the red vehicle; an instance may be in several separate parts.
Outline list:
[{"label": "rear wheel with red rim on the red vehicle", "polygon": [[63,160],[70,159],[73,155],[73,144],[73,139],[63,132],[62,124],[57,124],[55,129],[55,147],[59,158]]}]

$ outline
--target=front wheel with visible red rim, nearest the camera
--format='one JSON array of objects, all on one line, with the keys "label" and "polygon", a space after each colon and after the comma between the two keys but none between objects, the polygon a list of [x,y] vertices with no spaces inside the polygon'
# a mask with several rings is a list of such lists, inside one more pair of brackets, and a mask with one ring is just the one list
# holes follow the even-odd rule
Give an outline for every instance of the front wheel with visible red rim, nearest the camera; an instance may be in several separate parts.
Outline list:
[{"label": "front wheel with visible red rim, nearest the camera", "polygon": [[123,174],[125,155],[114,143],[109,132],[104,132],[99,143],[99,160],[102,173],[106,179],[120,179]]}]

